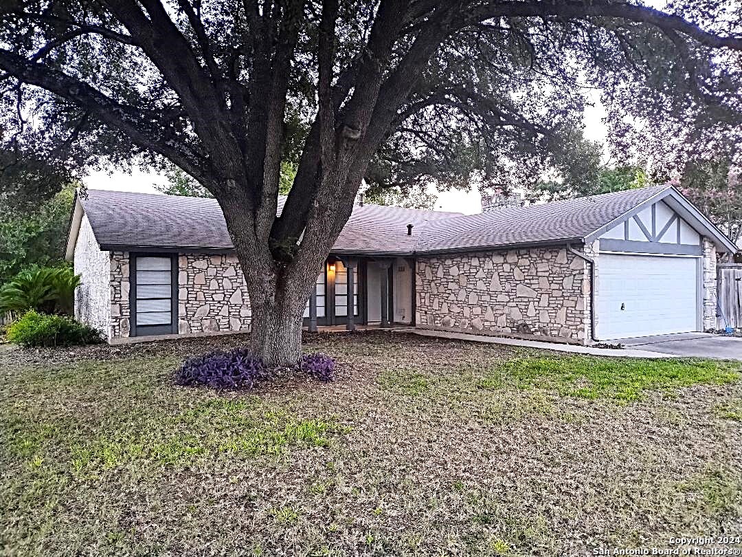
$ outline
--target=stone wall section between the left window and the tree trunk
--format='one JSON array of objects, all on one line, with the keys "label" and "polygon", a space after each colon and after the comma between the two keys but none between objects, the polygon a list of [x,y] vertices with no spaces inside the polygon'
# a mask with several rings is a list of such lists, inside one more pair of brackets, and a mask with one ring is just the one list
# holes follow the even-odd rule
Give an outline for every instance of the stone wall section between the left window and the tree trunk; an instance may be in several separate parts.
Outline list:
[{"label": "stone wall section between the left window and the tree trunk", "polygon": [[234,255],[180,255],[178,332],[249,330],[250,300]]}]

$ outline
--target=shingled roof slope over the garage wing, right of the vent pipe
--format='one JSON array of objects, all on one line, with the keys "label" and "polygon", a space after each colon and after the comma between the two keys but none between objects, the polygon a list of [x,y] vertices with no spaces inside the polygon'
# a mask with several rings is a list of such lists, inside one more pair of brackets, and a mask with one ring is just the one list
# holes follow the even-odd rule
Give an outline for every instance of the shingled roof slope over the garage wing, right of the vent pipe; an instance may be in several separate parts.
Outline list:
[{"label": "shingled roof slope over the garage wing, right of the vent pipe", "polygon": [[669,187],[628,189],[433,221],[425,227],[416,248],[443,252],[580,241]]}]

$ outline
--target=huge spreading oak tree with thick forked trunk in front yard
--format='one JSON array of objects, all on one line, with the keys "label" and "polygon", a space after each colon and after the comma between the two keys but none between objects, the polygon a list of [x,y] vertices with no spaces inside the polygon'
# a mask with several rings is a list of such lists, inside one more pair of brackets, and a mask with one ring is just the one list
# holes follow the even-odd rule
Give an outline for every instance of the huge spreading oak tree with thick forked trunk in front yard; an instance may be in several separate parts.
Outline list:
[{"label": "huge spreading oak tree with thick forked trunk in front yard", "polygon": [[666,12],[618,0],[1,0],[1,125],[7,149],[81,168],[167,160],[198,180],[246,276],[252,348],[287,365],[364,178],[532,182],[570,156],[585,87],[604,91],[617,147],[651,143],[631,134],[640,121],[644,137],[691,126],[660,143],[667,153],[710,149],[707,132],[740,121],[740,16],[709,0]]}]

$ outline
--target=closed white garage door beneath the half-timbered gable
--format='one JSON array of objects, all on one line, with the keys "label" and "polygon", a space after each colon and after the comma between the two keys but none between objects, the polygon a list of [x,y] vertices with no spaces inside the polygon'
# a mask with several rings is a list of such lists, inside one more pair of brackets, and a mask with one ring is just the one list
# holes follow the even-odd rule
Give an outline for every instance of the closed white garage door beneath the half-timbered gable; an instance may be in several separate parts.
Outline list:
[{"label": "closed white garage door beneath the half-timbered gable", "polygon": [[598,258],[597,336],[620,339],[697,330],[697,258]]}]

